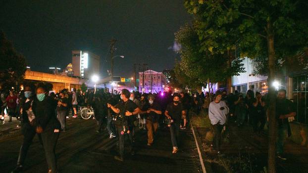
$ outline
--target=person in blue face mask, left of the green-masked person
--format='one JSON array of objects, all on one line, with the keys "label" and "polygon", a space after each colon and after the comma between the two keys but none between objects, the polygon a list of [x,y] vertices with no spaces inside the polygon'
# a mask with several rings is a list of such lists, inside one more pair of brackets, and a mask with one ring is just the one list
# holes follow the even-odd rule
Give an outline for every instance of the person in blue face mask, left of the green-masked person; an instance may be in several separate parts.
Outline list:
[{"label": "person in blue face mask, left of the green-masked person", "polygon": [[24,84],[24,96],[22,107],[20,109],[21,114],[21,132],[23,134],[23,142],[19,150],[17,166],[12,173],[19,173],[24,170],[24,161],[26,159],[27,152],[32,143],[32,140],[36,134],[35,131],[35,114],[33,113],[32,104],[35,97],[35,86],[32,83]]}]

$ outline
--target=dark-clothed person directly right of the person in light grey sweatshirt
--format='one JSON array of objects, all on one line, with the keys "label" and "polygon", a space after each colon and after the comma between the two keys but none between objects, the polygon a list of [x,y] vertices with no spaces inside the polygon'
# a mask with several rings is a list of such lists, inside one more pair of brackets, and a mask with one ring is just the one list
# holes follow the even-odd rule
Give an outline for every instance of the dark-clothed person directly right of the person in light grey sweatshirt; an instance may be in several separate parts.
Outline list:
[{"label": "dark-clothed person directly right of the person in light grey sweatshirt", "polygon": [[237,126],[241,127],[244,125],[245,116],[247,112],[245,100],[242,94],[239,94],[238,100],[234,102],[234,105],[235,105],[234,115],[237,118]]}]

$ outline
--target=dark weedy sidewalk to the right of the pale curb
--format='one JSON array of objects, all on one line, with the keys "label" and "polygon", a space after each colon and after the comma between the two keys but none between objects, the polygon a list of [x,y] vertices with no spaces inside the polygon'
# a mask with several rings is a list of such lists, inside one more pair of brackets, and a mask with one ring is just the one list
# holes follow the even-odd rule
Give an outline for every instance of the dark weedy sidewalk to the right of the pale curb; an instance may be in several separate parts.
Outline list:
[{"label": "dark weedy sidewalk to the right of the pale curb", "polygon": [[[228,132],[222,140],[221,152],[225,155],[218,158],[216,153],[209,149],[210,141],[208,136],[209,128],[196,128],[202,138],[203,149],[208,159],[212,163],[212,169],[224,167],[231,172],[241,170],[250,172],[251,170],[260,172],[267,167],[267,135],[253,134],[252,127],[244,126],[238,128],[235,124],[228,125]],[[206,136],[207,134],[207,136]],[[205,137],[206,136],[206,137]],[[207,139],[206,139],[207,138]],[[307,173],[308,172],[308,148],[287,140],[284,147],[287,160],[277,159],[277,173]],[[246,170],[246,171],[245,171]]]}]

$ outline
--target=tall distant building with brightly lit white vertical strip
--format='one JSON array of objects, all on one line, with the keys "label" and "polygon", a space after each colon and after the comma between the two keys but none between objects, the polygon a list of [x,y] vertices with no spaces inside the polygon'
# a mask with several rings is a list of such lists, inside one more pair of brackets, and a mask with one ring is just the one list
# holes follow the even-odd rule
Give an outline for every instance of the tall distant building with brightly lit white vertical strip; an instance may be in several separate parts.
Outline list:
[{"label": "tall distant building with brightly lit white vertical strip", "polygon": [[72,70],[74,76],[90,79],[100,72],[100,56],[89,51],[72,51]]}]

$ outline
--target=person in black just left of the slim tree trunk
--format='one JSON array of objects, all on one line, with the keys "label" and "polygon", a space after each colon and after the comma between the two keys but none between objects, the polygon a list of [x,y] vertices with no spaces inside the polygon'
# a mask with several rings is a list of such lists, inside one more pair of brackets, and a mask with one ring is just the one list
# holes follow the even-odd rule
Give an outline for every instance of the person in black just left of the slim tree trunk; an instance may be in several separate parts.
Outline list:
[{"label": "person in black just left of the slim tree trunk", "polygon": [[[265,114],[265,101],[262,99],[262,95],[256,92],[256,102],[253,103],[255,107],[255,117],[253,122],[254,132],[260,134],[261,130],[264,129],[266,114]],[[259,125],[260,124],[260,125]]]}]

